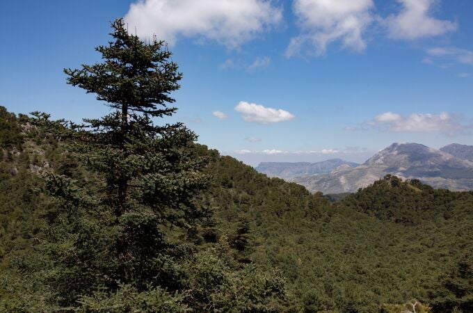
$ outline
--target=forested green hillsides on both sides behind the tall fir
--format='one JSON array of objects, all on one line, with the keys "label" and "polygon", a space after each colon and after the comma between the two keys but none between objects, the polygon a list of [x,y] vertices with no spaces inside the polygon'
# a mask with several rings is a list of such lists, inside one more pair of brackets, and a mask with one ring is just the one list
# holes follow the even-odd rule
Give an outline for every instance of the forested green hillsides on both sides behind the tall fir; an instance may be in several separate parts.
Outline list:
[{"label": "forested green hillsides on both sides behind the tall fir", "polygon": [[[84,186],[92,178],[60,144],[18,122],[10,114],[0,118],[0,276],[6,282],[0,307],[48,292],[41,282],[50,261],[39,243],[56,204],[39,192],[38,170],[86,178]],[[278,268],[287,290],[282,311],[386,312],[385,303],[416,298],[433,312],[471,312],[473,193],[385,177],[330,204],[320,193],[268,178],[216,150],[193,149],[210,161],[205,172],[213,180],[197,200],[214,214],[176,238],[189,236],[189,247],[207,257],[207,249],[221,251],[225,243],[219,253],[268,277]],[[202,278],[216,279],[212,271]]]}]

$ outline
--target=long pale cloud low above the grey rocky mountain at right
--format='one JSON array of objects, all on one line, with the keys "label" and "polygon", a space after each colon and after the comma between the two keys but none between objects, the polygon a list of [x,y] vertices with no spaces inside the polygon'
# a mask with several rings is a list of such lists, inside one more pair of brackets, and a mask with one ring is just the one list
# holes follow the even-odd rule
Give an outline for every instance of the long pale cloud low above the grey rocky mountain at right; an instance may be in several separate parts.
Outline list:
[{"label": "long pale cloud low above the grey rocky mountain at right", "polygon": [[385,112],[366,122],[365,125],[392,132],[438,132],[449,135],[458,134],[471,128],[471,125],[463,123],[462,118],[446,112],[440,114],[412,113],[411,115]]}]

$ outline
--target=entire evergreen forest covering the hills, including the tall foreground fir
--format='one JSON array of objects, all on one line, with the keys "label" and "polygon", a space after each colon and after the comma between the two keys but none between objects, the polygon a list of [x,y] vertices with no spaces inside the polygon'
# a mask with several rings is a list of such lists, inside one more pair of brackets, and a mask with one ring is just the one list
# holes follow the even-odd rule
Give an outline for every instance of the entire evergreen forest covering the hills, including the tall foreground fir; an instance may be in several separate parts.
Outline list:
[{"label": "entire evergreen forest covering the hills, including the tall foreground fir", "polygon": [[109,115],[0,106],[0,312],[473,312],[473,191],[268,178],[167,122],[165,42],[96,50],[65,74]]}]

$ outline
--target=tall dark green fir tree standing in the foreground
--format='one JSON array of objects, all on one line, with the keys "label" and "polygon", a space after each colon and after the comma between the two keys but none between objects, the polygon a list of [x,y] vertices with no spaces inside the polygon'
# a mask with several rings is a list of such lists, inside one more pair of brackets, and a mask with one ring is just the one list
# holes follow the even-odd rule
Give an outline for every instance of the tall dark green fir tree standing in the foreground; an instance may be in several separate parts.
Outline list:
[{"label": "tall dark green fir tree standing in the foreground", "polygon": [[182,78],[177,64],[164,42],[129,35],[122,19],[112,28],[113,41],[96,48],[102,63],[65,70],[67,83],[95,93],[112,113],[81,125],[34,113],[36,125],[69,143],[88,170],[84,184],[45,175],[58,204],[49,231],[50,284],[66,306],[98,288],[179,289],[175,262],[188,251],[167,236],[209,213],[195,204],[209,184],[201,172],[206,160],[193,153],[197,136],[181,123],[154,124],[176,111],[170,93]]}]

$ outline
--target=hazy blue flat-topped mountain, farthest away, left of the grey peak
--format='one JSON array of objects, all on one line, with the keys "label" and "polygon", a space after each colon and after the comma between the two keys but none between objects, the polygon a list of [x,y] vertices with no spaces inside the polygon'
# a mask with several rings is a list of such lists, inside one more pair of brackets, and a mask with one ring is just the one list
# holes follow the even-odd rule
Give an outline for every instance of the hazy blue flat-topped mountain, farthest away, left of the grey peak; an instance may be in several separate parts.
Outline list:
[{"label": "hazy blue flat-topped mountain, farthest away, left of the grey peak", "polygon": [[259,163],[256,170],[268,175],[269,177],[280,177],[291,179],[294,177],[326,174],[339,168],[346,166],[354,168],[358,163],[344,161],[342,159],[330,159],[326,161],[309,163],[309,162],[262,162]]}]

